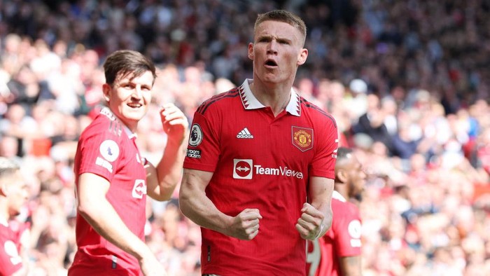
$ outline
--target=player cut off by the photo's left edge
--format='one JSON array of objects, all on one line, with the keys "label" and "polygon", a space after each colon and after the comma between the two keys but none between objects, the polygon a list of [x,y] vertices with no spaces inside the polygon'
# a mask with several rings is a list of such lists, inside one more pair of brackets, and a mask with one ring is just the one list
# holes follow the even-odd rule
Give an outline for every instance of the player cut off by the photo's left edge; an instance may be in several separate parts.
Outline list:
[{"label": "player cut off by the photo's left edge", "polygon": [[20,238],[8,227],[8,221],[20,214],[28,195],[19,166],[0,157],[0,276],[27,273],[19,254]]}]

